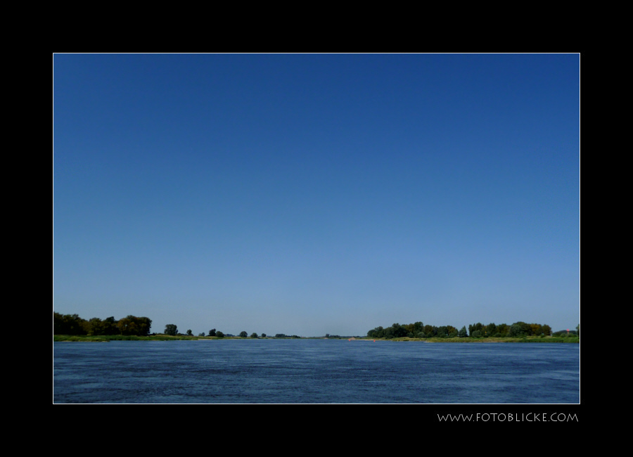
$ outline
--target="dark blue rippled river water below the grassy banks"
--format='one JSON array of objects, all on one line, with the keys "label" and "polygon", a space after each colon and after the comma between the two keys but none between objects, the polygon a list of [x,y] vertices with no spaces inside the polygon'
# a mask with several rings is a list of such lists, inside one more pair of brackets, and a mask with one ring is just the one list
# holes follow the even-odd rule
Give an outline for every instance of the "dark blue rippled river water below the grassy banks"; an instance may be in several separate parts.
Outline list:
[{"label": "dark blue rippled river water below the grassy banks", "polygon": [[577,404],[580,345],[57,342],[53,402]]}]

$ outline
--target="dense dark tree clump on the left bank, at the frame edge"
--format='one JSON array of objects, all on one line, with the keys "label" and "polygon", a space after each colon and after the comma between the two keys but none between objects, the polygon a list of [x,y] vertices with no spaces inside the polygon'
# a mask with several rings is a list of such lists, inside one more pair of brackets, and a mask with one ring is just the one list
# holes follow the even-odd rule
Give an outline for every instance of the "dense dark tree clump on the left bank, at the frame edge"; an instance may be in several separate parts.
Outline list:
[{"label": "dense dark tree clump on the left bank, at the frame edge", "polygon": [[114,316],[89,321],[77,314],[53,312],[53,335],[149,335],[152,320],[148,317],[126,316],[118,321]]}]

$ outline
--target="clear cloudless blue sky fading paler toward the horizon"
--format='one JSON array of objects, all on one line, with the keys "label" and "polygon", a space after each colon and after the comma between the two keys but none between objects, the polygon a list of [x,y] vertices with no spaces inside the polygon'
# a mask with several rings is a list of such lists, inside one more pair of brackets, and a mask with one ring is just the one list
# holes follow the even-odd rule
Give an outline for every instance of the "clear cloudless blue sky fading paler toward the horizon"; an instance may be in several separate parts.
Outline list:
[{"label": "clear cloudless blue sky fading paler toward the horizon", "polygon": [[577,54],[55,54],[53,310],[580,322]]}]

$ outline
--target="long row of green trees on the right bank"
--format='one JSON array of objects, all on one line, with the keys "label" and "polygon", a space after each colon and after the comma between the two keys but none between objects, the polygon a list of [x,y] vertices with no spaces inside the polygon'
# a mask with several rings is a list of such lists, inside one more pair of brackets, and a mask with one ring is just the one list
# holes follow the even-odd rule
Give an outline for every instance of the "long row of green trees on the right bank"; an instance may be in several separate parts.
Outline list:
[{"label": "long row of green trees on the right bank", "polygon": [[[579,326],[580,328],[580,326]],[[580,330],[579,330],[580,333]],[[394,323],[392,326],[383,328],[376,327],[367,332],[370,338],[486,338],[486,337],[524,337],[532,335],[551,335],[551,327],[540,323],[515,322],[511,325],[506,323],[489,323],[487,326],[478,322],[468,326],[463,326],[457,330],[454,326],[430,326],[424,325],[421,321],[400,325]]]}]

